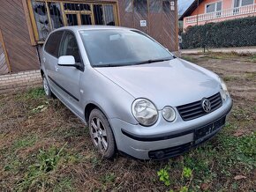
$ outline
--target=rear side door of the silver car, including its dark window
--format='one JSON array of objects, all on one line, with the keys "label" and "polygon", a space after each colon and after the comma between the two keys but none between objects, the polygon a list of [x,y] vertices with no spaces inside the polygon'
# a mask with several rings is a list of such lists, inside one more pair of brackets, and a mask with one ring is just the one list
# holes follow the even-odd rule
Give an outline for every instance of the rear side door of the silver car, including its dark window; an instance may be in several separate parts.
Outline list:
[{"label": "rear side door of the silver car, including its dark window", "polygon": [[56,31],[54,33],[51,33],[45,43],[42,55],[42,63],[44,65],[44,70],[47,75],[50,88],[53,92],[56,93],[58,93],[58,89],[56,86],[56,81],[58,78],[58,74],[56,73],[56,70],[58,68],[58,50],[63,34],[64,31]]}]

